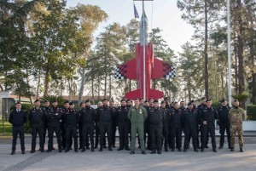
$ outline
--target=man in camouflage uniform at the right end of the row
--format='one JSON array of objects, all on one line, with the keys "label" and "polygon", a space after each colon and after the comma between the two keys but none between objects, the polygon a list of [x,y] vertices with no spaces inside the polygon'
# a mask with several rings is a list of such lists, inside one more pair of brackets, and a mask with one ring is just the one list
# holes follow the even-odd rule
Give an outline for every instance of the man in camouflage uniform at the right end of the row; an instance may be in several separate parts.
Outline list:
[{"label": "man in camouflage uniform at the right end of the row", "polygon": [[242,138],[242,121],[245,120],[245,112],[239,107],[238,100],[234,100],[233,107],[230,109],[230,151],[234,151],[235,148],[235,136],[236,133],[239,139],[240,151],[243,152],[243,138]]}]

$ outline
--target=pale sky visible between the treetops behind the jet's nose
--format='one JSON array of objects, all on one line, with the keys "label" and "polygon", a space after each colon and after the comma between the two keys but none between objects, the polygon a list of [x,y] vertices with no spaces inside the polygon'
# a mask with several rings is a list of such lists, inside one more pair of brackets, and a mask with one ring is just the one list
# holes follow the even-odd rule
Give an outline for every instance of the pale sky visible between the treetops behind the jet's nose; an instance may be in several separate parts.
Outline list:
[{"label": "pale sky visible between the treetops behind the jet's nose", "polygon": [[[133,0],[67,0],[67,7],[75,7],[78,3],[97,5],[108,14],[108,20],[99,26],[95,35],[113,22],[125,26],[134,18]],[[142,2],[134,3],[141,17]],[[175,54],[181,52],[181,45],[190,40],[194,29],[181,19],[182,12],[177,9],[177,0],[145,1],[145,13],[148,16],[149,30],[159,27],[162,30],[161,36]]]}]

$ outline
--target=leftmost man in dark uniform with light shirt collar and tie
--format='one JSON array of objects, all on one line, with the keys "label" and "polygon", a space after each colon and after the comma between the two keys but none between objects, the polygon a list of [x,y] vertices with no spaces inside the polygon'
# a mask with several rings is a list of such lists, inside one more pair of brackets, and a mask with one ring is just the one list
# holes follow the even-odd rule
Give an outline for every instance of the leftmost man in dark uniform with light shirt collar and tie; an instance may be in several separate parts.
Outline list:
[{"label": "leftmost man in dark uniform with light shirt collar and tie", "polygon": [[13,134],[13,144],[12,144],[12,152],[11,155],[15,154],[16,151],[16,142],[17,136],[19,134],[20,137],[20,147],[21,153],[25,153],[25,138],[24,138],[24,124],[26,123],[26,113],[21,110],[21,103],[18,101],[15,104],[15,110],[11,111],[9,114],[9,123],[13,125],[12,134]]}]

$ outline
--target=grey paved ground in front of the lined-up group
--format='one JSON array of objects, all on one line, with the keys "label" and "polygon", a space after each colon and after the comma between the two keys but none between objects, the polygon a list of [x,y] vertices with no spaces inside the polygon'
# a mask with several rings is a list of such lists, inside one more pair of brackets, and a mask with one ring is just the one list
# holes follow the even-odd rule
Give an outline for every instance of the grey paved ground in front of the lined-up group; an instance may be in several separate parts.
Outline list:
[{"label": "grey paved ground in front of the lined-up group", "polygon": [[[31,139],[26,138],[26,155],[21,155],[20,143],[17,144],[17,151],[14,156],[10,155],[11,140],[0,140],[0,170],[15,171],[73,171],[73,170],[201,170],[201,171],[254,171],[256,169],[256,137],[245,137],[244,152],[239,152],[236,144],[236,151],[230,152],[227,145],[224,149],[212,152],[211,145],[205,152],[194,152],[189,149],[184,152],[165,152],[161,155],[142,155],[137,149],[135,155],[130,155],[130,151],[105,150],[95,152],[90,150],[84,153],[59,153],[57,150],[41,153],[36,151],[30,154]],[[218,138],[217,138],[218,142]],[[236,140],[237,143],[237,140]],[[55,144],[55,148],[56,148]],[[45,145],[46,147],[46,145]]]}]

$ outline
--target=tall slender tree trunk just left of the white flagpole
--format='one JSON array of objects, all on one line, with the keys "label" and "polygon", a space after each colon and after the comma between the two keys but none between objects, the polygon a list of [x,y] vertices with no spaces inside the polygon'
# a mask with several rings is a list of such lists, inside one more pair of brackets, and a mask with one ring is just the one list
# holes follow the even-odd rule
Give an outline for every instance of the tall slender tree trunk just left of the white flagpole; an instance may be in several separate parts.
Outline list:
[{"label": "tall slender tree trunk just left of the white flagpole", "polygon": [[207,16],[207,0],[205,0],[205,94],[209,98],[209,76],[208,76],[208,16]]}]

